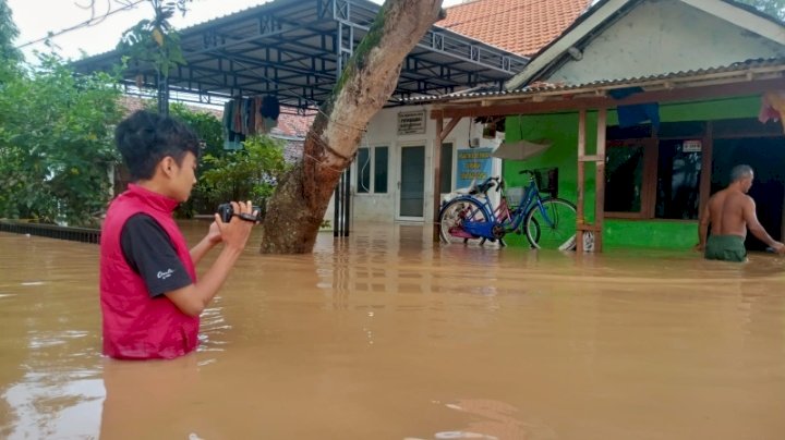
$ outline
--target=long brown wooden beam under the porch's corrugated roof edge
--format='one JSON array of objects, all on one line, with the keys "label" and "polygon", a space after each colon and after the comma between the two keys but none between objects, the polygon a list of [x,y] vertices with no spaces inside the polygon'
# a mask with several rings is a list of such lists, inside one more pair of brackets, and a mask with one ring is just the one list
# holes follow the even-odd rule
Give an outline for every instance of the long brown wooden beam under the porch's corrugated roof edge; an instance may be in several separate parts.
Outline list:
[{"label": "long brown wooden beam under the porch's corrugated roof edge", "polygon": [[[631,84],[631,86],[635,84]],[[519,102],[488,103],[472,102],[460,107],[445,107],[431,111],[431,118],[460,118],[460,117],[504,117],[509,114],[542,114],[573,112],[581,109],[616,108],[618,106],[647,103],[647,102],[678,102],[716,98],[730,98],[736,96],[756,95],[773,89],[785,88],[785,77],[774,80],[760,80],[744,83],[721,84],[710,86],[696,86],[674,88],[671,90],[642,91],[624,99],[607,97],[571,97],[565,90],[559,100],[532,102],[529,99],[536,94],[521,95]]]}]

